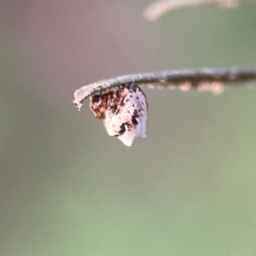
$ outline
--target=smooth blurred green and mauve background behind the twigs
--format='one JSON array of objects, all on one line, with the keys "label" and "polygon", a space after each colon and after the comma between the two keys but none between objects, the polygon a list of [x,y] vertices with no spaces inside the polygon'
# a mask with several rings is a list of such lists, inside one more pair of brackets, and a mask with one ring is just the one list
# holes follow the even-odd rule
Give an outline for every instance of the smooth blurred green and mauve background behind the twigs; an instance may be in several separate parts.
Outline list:
[{"label": "smooth blurred green and mauve background behind the twigs", "polygon": [[0,1],[1,256],[256,255],[256,86],[145,89],[131,148],[73,106],[116,75],[255,66],[256,5],[150,3]]}]

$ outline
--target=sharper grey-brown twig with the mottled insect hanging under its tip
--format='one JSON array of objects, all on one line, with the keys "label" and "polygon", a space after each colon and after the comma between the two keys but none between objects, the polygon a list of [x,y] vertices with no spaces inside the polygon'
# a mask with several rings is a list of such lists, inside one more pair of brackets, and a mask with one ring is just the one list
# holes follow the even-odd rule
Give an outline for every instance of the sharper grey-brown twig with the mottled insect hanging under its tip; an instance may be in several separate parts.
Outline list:
[{"label": "sharper grey-brown twig with the mottled insect hanging under its tip", "polygon": [[[222,83],[244,82],[256,79],[256,67],[251,68],[203,68],[200,70],[173,70],[158,73],[137,73],[125,76],[119,76],[113,79],[106,79],[97,83],[88,84],[74,92],[74,103],[80,109],[84,100],[102,90],[108,90],[120,84],[137,83],[137,84],[155,84],[159,86],[178,87],[181,90],[196,88],[199,90],[211,90]],[[212,89],[213,86],[213,89]]]}]

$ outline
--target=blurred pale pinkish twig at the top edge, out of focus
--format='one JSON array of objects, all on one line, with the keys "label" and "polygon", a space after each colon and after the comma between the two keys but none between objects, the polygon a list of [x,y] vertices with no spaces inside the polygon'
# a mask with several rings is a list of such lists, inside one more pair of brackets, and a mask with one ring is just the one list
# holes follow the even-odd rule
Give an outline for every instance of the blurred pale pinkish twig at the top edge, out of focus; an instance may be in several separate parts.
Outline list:
[{"label": "blurred pale pinkish twig at the top edge, out of focus", "polygon": [[223,8],[236,8],[241,2],[253,3],[255,0],[161,0],[148,6],[143,12],[143,15],[147,20],[157,20],[160,16],[165,15],[173,9],[196,7],[199,5],[217,5]]}]

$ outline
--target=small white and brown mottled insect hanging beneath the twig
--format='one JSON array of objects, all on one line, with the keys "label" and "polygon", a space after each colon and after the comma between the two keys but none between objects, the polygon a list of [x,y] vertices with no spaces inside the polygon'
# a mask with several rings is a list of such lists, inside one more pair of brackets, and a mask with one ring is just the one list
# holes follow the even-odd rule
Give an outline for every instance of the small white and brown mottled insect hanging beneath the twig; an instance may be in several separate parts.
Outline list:
[{"label": "small white and brown mottled insect hanging beneath the twig", "polygon": [[122,84],[90,96],[90,109],[103,120],[108,135],[126,146],[136,137],[146,137],[148,104],[137,84]]}]

